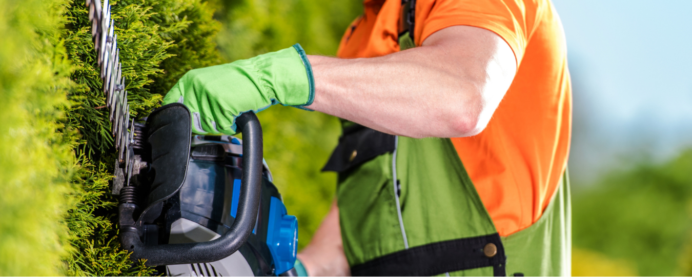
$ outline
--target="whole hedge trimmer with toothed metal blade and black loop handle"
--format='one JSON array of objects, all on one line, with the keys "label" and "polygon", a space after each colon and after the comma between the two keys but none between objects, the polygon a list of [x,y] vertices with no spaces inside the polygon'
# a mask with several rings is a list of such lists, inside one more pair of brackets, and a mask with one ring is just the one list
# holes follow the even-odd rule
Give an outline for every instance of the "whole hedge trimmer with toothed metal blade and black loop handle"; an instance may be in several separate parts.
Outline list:
[{"label": "whole hedge trimmer with toothed metal blade and black loop handle", "polygon": [[[130,120],[108,0],[86,0],[116,152],[120,242],[172,276],[295,276],[298,223],[262,159],[252,112],[234,136],[190,136],[181,103]],[[163,271],[163,267],[159,268]]]}]

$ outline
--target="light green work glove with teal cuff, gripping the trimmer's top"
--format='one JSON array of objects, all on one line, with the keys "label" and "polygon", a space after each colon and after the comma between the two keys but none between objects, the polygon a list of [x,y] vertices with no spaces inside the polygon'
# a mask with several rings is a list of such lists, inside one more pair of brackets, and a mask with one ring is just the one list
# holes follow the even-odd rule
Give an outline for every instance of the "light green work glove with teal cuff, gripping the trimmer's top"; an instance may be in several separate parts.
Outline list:
[{"label": "light green work glove with teal cuff, gripping the trimmer's top", "polygon": [[[280,51],[230,64],[193,69],[163,98],[163,105],[181,102],[192,112],[192,132],[235,134],[235,118],[281,103],[312,104],[315,82],[305,51],[295,44]],[[309,109],[308,109],[309,110]]]}]

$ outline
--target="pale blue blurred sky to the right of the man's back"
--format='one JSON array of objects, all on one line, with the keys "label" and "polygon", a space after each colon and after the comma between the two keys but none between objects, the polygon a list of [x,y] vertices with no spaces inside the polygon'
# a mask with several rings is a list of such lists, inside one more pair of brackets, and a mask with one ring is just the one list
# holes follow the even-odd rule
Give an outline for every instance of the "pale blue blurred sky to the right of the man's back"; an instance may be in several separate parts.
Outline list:
[{"label": "pale blue blurred sky to the right of the man's back", "polygon": [[572,175],[692,147],[692,1],[553,3],[574,82]]}]

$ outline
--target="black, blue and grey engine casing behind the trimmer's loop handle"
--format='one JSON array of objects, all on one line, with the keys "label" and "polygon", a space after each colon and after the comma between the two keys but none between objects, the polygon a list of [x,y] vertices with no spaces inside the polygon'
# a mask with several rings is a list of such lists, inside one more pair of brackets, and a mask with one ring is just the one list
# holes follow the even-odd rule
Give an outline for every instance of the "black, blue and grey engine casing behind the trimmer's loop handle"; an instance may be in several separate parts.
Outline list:
[{"label": "black, blue and grey engine casing behind the trimmer's loop handle", "polygon": [[[140,226],[144,244],[215,240],[235,220],[242,179],[242,141],[234,136],[192,136],[180,190],[166,199],[161,216]],[[295,276],[298,224],[286,208],[264,163],[255,228],[232,255],[207,263],[166,265],[168,276]],[[163,270],[162,267],[159,267]]]}]

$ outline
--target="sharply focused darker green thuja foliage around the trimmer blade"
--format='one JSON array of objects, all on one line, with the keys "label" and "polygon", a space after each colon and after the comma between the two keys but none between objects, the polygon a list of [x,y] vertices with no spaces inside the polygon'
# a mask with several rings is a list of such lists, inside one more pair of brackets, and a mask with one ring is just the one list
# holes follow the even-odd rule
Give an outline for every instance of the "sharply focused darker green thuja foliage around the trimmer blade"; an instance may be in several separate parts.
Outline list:
[{"label": "sharply focused darker green thuja foliage around the trimmer blade", "polygon": [[[111,1],[118,36],[122,76],[126,80],[131,118],[141,118],[159,105],[161,94],[192,68],[219,63],[214,43],[219,29],[213,10],[201,0]],[[91,22],[82,1],[64,12],[64,45],[75,66],[77,88],[66,110],[81,168],[73,178],[80,187],[68,213],[73,255],[68,273],[78,276],[145,276],[154,270],[129,260],[120,249],[116,228],[117,200],[109,193],[115,153],[102,81],[91,42]]]}]

